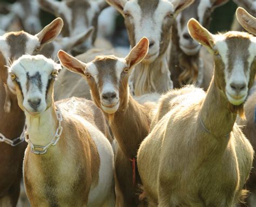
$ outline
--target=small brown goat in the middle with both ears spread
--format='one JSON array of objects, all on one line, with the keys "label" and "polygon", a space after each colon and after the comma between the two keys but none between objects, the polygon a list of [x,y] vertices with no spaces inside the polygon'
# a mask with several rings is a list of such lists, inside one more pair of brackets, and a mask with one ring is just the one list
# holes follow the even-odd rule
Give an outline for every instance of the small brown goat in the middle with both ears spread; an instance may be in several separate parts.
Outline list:
[{"label": "small brown goat in the middle with both ears spread", "polygon": [[[117,194],[123,197],[123,201],[118,202],[120,207],[134,207],[139,204],[137,184],[141,182],[137,167],[132,169],[132,164],[135,164],[134,158],[140,142],[149,133],[150,106],[153,105],[146,107],[132,98],[128,78],[134,66],[146,56],[148,47],[149,41],[143,38],[126,58],[97,56],[89,63],[83,63],[63,51],[58,53],[64,67],[86,78],[93,100],[109,120],[113,135],[118,141],[115,168],[117,185],[119,184]],[[132,170],[136,170],[136,177],[133,177],[135,174]]]}]

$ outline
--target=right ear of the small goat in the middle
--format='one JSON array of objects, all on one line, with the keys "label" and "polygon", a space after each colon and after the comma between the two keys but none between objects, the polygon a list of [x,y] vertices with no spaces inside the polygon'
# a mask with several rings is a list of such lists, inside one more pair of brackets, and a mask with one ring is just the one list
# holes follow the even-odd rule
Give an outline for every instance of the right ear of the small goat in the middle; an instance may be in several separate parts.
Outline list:
[{"label": "right ear of the small goat in the middle", "polygon": [[147,55],[148,51],[149,51],[149,40],[143,37],[141,40],[139,40],[138,44],[132,48],[129,55],[127,55],[125,58],[129,68],[130,69],[133,68],[140,61],[142,61]]}]

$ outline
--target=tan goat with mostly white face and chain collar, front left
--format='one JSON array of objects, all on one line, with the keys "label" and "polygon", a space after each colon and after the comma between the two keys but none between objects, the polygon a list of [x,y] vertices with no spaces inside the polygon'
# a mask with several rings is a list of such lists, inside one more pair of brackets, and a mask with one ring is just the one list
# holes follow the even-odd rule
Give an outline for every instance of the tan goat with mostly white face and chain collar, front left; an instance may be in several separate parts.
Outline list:
[{"label": "tan goat with mostly white face and chain collar, front left", "polygon": [[82,98],[53,101],[60,67],[43,55],[23,55],[9,69],[28,127],[26,194],[32,207],[113,207],[113,150],[103,113]]}]

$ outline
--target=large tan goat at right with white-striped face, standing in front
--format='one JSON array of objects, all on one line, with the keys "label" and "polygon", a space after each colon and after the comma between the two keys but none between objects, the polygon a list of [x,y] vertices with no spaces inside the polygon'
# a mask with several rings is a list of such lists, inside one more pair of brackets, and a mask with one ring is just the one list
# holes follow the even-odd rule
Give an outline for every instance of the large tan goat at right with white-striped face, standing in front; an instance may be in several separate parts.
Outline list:
[{"label": "large tan goat at right with white-striped face, standing in front", "polygon": [[139,174],[150,206],[234,207],[245,193],[254,153],[235,119],[243,116],[254,82],[256,38],[213,35],[195,19],[188,31],[214,57],[210,88],[161,105],[158,113],[169,111],[140,145]]}]

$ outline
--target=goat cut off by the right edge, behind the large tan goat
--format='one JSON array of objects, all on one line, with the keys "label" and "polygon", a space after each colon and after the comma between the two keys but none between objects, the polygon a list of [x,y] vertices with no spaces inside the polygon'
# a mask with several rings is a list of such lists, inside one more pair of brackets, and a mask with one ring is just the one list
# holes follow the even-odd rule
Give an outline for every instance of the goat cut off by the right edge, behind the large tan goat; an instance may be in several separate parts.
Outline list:
[{"label": "goat cut off by the right edge, behind the large tan goat", "polygon": [[[245,9],[238,8],[236,12],[238,22],[245,30],[256,35],[256,18],[251,16]],[[255,85],[255,84],[254,84]],[[251,90],[252,92],[252,90]],[[242,126],[242,132],[246,135],[246,138],[250,140],[254,150],[256,149],[256,91],[252,92],[252,95],[247,99],[245,106],[245,117],[241,119],[238,117],[237,124]],[[256,160],[253,160],[253,168],[251,176],[246,184],[246,189],[250,190],[251,194],[246,198],[246,203],[253,207],[256,204]],[[247,205],[242,205],[247,206]]]}]

